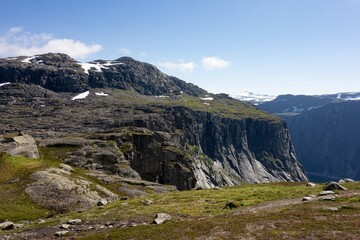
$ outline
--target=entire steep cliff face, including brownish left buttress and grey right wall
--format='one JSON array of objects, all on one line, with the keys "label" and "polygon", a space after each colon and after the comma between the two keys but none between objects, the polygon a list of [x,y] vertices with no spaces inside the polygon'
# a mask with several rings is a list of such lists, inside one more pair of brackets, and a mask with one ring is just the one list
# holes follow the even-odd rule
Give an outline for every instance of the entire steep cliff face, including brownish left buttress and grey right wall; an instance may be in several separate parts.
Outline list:
[{"label": "entire steep cliff face, including brownish left buttress and grey right wall", "polygon": [[[180,189],[307,180],[282,121],[236,120],[184,107],[163,117],[162,129],[143,122],[156,131],[132,140],[130,163],[144,179]],[[159,137],[159,130],[172,127],[166,139],[163,132]]]}]

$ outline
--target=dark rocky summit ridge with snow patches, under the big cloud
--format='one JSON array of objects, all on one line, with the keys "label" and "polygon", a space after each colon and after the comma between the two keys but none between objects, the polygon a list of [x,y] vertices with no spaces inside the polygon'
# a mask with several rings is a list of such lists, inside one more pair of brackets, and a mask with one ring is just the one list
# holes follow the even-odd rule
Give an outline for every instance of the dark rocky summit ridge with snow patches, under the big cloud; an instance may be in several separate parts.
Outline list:
[{"label": "dark rocky summit ridge with snow patches, under the big cloud", "polygon": [[130,57],[79,63],[61,53],[0,59],[0,83],[36,84],[55,92],[89,88],[135,90],[145,95],[205,94],[206,91]]}]

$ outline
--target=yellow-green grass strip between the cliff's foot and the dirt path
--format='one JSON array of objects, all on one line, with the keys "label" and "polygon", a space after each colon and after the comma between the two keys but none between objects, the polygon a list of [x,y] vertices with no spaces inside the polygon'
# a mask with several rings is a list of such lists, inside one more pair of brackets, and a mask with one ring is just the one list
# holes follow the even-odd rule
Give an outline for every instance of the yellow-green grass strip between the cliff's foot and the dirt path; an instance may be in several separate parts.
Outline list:
[{"label": "yellow-green grass strip between the cliff's foot and the dirt path", "polygon": [[[244,184],[224,190],[189,190],[155,194],[130,199],[126,201],[126,206],[114,202],[107,205],[101,213],[101,210],[94,208],[81,214],[74,213],[73,217],[86,220],[96,218],[102,221],[129,220],[135,217],[151,221],[158,212],[185,218],[211,217],[231,212],[232,210],[225,208],[228,201],[235,202],[241,208],[276,199],[315,194],[318,191],[320,187],[309,188],[303,183]],[[154,204],[146,206],[142,203],[144,199],[149,199]]]}]

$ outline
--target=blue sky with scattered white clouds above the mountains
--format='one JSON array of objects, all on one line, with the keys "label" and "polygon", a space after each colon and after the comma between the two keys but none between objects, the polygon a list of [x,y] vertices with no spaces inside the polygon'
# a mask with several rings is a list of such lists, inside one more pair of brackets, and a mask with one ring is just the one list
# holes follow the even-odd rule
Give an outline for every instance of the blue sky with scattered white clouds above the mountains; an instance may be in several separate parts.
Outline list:
[{"label": "blue sky with scattered white clouds above the mountains", "polygon": [[360,0],[0,4],[0,57],[130,56],[213,93],[360,91]]}]

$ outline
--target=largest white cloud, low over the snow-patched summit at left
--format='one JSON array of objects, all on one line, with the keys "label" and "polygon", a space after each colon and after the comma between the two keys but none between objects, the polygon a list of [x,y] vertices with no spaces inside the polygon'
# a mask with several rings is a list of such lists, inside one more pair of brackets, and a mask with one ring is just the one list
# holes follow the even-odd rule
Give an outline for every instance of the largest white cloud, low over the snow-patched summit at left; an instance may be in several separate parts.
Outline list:
[{"label": "largest white cloud, low over the snow-patched summit at left", "polygon": [[60,52],[73,58],[85,58],[102,49],[99,44],[85,44],[78,40],[55,38],[48,33],[34,34],[24,32],[21,27],[10,28],[0,36],[0,56],[35,55],[48,52]]}]

